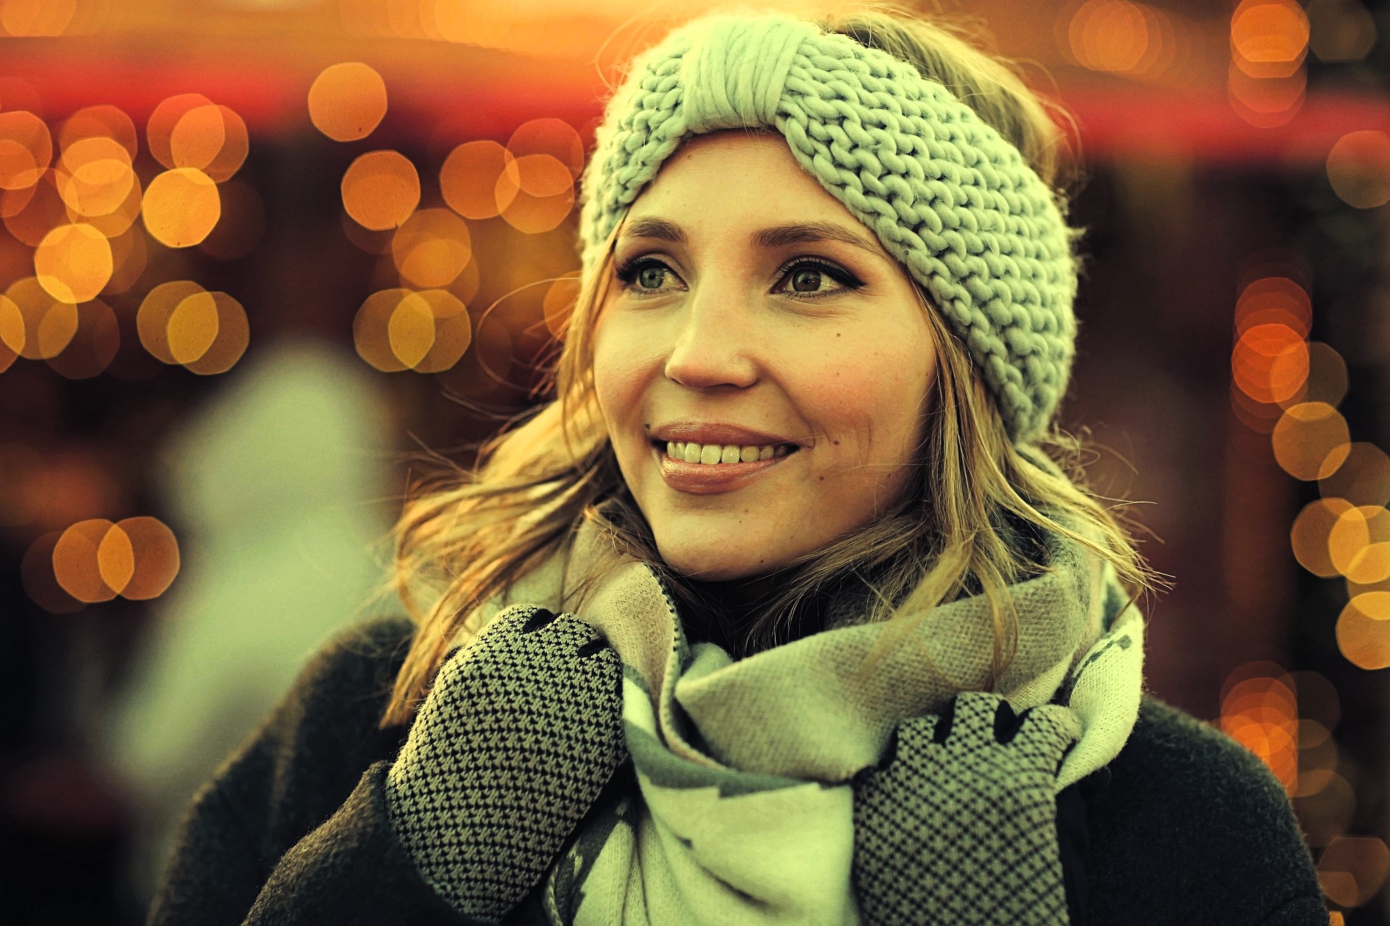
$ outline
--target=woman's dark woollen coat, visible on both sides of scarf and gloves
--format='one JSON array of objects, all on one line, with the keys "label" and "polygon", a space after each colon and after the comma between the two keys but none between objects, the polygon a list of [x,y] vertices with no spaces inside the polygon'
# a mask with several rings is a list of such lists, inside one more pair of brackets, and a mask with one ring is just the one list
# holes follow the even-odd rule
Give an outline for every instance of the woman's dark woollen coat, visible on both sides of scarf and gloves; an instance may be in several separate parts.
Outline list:
[{"label": "woman's dark woollen coat, visible on both sides of scarf and gloves", "polygon": [[[313,656],[190,802],[152,926],[478,922],[421,880],[386,816],[407,730],[377,720],[413,631],[368,622]],[[1327,923],[1284,790],[1230,737],[1144,695],[1106,769],[1058,799],[1074,922]],[[545,923],[535,893],[505,922]]]}]

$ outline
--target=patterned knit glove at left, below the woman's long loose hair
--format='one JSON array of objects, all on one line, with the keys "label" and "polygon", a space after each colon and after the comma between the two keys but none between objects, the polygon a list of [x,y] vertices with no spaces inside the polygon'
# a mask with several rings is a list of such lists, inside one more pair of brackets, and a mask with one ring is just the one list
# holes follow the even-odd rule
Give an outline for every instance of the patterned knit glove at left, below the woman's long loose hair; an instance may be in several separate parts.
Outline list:
[{"label": "patterned knit glove at left, below the woman's long loose hair", "polygon": [[514,605],[439,669],[386,808],[435,891],[500,920],[626,759],[617,652],[574,615]]}]

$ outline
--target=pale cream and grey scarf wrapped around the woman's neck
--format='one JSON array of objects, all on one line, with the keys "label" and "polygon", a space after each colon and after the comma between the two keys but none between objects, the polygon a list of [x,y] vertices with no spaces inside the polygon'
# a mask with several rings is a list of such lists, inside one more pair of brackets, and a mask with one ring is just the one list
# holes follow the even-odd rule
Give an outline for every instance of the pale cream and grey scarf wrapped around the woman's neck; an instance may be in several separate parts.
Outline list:
[{"label": "pale cream and grey scarf wrapped around the woman's neck", "polygon": [[[1062,537],[1047,549],[1049,569],[1011,587],[1019,645],[994,691],[1015,710],[1052,701],[1076,712],[1061,791],[1134,727],[1144,622],[1108,563]],[[885,627],[862,601],[831,602],[827,630],[735,662],[713,642],[689,645],[656,573],[617,559],[584,523],[484,606],[484,622],[513,603],[575,613],[624,663],[635,784],[610,790],[549,869],[553,923],[859,923],[849,780],[899,722],[984,688],[994,638],[983,595],[942,603],[856,679]]]}]

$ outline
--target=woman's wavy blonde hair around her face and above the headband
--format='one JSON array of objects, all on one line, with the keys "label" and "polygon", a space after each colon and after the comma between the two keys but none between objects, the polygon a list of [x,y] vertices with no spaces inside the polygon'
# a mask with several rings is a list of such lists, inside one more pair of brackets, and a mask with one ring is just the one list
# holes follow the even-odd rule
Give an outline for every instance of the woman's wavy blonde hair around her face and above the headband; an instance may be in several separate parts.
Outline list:
[{"label": "woman's wavy blonde hair around her face and above the headband", "polygon": [[[1059,184],[1076,179],[1069,174],[1072,149],[1047,106],[1006,61],[974,47],[951,25],[881,4],[824,25],[951,88],[1023,153],[1056,190],[1066,214],[1068,192]],[[471,470],[453,467],[418,487],[402,514],[395,585],[417,633],[382,727],[410,720],[455,640],[481,630],[484,602],[538,567],[584,521],[598,527],[614,551],[648,563],[685,605],[709,605],[662,562],[598,409],[592,336],[607,296],[614,238],[616,231],[595,271],[580,282],[552,371],[557,398],[485,442]],[[1081,441],[1054,424],[1042,438],[1015,446],[965,346],[915,289],[930,321],[937,380],[908,485],[872,523],[788,564],[787,581],[745,628],[745,645],[749,651],[777,645],[798,609],[858,577],[874,595],[867,619],[888,622],[865,672],[935,605],[983,594],[994,616],[992,679],[998,679],[1017,645],[1008,587],[1047,567],[1011,545],[1009,524],[1031,524],[1080,544],[1113,564],[1131,596],[1150,588],[1155,574],[1119,517],[1087,488]]]}]

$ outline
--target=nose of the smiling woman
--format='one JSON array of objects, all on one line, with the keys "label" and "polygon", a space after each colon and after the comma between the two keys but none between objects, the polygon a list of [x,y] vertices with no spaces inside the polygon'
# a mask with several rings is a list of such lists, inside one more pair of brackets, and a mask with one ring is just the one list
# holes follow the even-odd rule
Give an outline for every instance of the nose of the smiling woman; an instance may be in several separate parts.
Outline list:
[{"label": "nose of the smiling woman", "polygon": [[746,293],[712,284],[694,288],[666,355],[666,378],[691,389],[746,388],[758,381],[753,345]]}]

